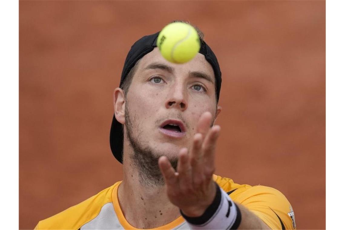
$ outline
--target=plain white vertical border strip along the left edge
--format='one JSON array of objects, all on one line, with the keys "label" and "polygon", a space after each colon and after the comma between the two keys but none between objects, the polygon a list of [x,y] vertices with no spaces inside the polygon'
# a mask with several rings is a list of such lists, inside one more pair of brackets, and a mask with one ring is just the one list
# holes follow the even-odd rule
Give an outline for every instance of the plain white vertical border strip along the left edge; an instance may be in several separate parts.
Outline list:
[{"label": "plain white vertical border strip along the left edge", "polygon": [[1,224],[19,227],[19,1],[2,1],[1,14]]}]

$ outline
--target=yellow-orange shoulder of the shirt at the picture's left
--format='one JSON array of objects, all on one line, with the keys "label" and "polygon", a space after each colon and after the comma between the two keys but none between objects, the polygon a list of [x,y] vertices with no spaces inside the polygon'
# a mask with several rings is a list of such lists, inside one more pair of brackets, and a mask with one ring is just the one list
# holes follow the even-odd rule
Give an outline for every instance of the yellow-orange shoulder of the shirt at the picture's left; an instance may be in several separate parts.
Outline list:
[{"label": "yellow-orange shoulder of the shirt at the picture's left", "polygon": [[75,206],[39,221],[35,229],[79,229],[95,218],[104,204],[112,202],[111,193],[118,184],[119,182]]}]

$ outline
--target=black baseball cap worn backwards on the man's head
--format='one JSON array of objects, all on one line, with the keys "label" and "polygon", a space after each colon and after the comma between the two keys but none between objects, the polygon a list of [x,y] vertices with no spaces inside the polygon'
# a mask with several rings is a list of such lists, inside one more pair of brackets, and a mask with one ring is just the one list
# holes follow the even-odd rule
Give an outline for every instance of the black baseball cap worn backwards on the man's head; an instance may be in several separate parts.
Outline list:
[{"label": "black baseball cap worn backwards on the man's head", "polygon": [[[120,86],[125,81],[129,71],[135,66],[138,60],[144,57],[146,54],[151,52],[155,47],[157,47],[157,37],[159,32],[144,36],[136,41],[131,49],[129,50],[124,69],[122,70]],[[211,48],[202,39],[200,43],[199,53],[203,54],[206,60],[211,64],[215,78],[216,78],[216,93],[217,100],[219,100],[220,86],[221,86],[221,72],[219,64],[215,54],[212,52]],[[110,128],[110,149],[114,157],[122,163],[123,150],[124,150],[124,130],[122,124],[118,122],[115,118],[115,114],[112,117],[112,123]]]}]

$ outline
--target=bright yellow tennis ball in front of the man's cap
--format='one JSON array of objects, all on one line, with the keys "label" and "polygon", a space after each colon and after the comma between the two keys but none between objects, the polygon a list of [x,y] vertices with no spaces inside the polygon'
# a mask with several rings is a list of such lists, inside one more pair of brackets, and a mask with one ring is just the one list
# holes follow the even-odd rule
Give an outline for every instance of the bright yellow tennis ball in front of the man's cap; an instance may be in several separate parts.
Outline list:
[{"label": "bright yellow tennis ball in front of the man's cap", "polygon": [[184,22],[173,22],[160,31],[157,47],[166,60],[185,63],[199,52],[200,39],[193,26]]}]

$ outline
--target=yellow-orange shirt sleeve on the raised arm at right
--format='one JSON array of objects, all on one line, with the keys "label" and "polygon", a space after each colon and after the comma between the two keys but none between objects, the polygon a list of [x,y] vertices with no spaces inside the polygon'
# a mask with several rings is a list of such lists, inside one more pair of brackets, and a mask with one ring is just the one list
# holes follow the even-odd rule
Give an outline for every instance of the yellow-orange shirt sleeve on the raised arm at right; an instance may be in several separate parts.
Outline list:
[{"label": "yellow-orange shirt sleeve on the raised arm at right", "polygon": [[237,189],[230,197],[256,214],[271,229],[296,229],[292,206],[283,193],[274,188],[253,186]]}]

